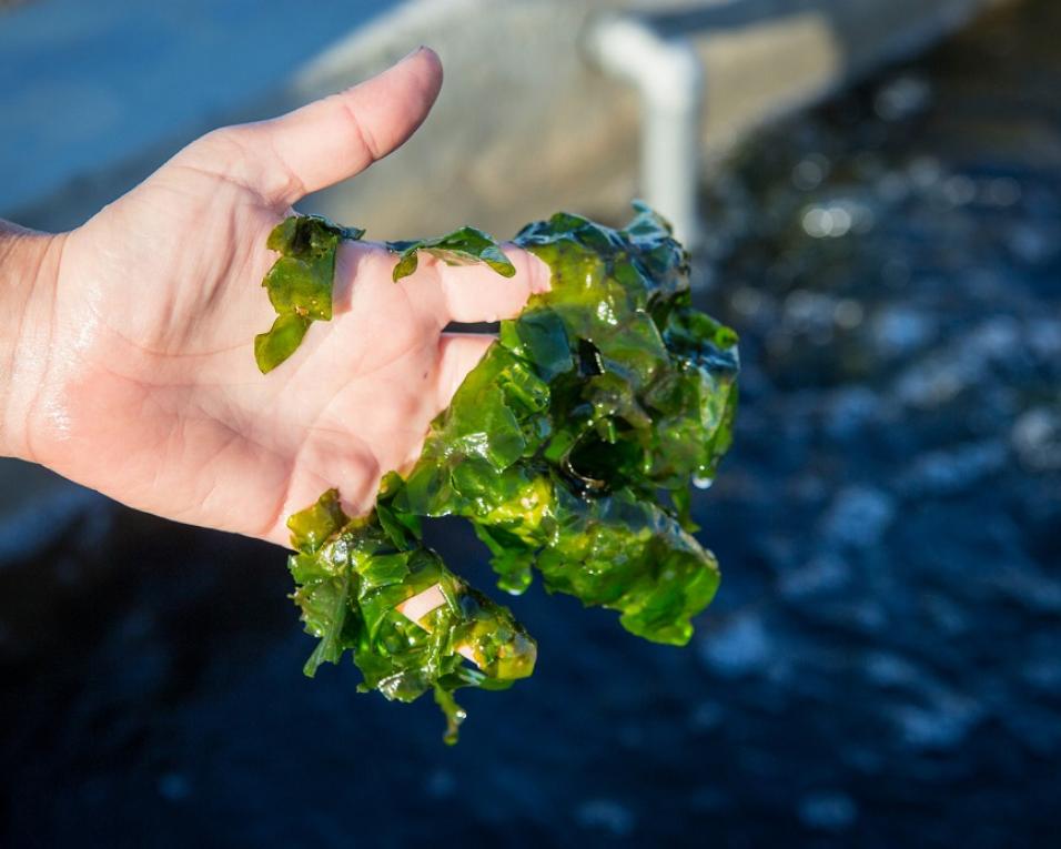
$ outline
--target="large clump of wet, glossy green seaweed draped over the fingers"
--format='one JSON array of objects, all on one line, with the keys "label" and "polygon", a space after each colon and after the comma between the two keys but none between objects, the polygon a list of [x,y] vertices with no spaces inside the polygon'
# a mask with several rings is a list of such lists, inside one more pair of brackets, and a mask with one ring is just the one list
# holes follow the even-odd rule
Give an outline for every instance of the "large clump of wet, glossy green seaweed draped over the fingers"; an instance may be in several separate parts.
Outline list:
[{"label": "large clump of wet, glossy green seaweed draped over the fingers", "polygon": [[[693,536],[689,487],[729,447],[737,337],[693,307],[688,255],[666,222],[635,210],[623,230],[566,213],[524,228],[514,242],[549,265],[552,287],[501,323],[416,464],[387,474],[367,516],[345,516],[333,489],[291,517],[294,599],[321,640],[309,675],[350,649],[362,689],[433,690],[453,741],[454,689],[533,671],[534,640],[424,546],[423,517],[468,519],[508,593],[537,573],[549,592],[617,610],[633,634],[689,640],[719,583]],[[507,263],[471,229],[390,246],[396,280],[420,250]],[[424,598],[437,606],[415,621],[402,613]]]}]

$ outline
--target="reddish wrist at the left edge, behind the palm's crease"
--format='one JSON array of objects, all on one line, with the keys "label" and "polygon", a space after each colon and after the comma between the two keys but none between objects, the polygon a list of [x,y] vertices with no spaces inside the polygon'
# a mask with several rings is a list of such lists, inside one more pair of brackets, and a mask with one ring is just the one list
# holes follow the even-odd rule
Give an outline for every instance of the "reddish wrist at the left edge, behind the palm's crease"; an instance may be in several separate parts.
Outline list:
[{"label": "reddish wrist at the left edge, behind the palm's crease", "polygon": [[64,239],[0,221],[0,456],[34,459],[30,434]]}]

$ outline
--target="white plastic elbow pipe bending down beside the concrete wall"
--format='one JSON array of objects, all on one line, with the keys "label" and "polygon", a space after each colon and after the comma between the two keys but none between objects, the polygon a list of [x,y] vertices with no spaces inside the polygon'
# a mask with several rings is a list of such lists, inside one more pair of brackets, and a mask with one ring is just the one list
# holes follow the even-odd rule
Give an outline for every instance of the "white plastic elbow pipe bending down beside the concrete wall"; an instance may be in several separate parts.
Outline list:
[{"label": "white plastic elbow pipe bending down beside the concrete wall", "polygon": [[587,47],[600,67],[633,83],[641,99],[640,188],[687,247],[700,235],[697,215],[704,70],[693,44],[665,38],[634,17],[606,18]]}]

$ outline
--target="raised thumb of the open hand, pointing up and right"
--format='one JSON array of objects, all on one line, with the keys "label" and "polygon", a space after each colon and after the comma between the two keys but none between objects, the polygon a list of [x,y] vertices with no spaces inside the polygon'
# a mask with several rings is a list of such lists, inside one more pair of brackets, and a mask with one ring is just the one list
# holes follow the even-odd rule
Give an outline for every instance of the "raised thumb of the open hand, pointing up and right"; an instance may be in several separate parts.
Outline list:
[{"label": "raised thumb of the open hand, pointing up and right", "polygon": [[[229,179],[286,208],[401,146],[427,118],[441,88],[442,62],[422,47],[346,91],[269,121],[223,128],[192,148],[206,142],[208,150],[221,151],[222,161],[213,164]],[[200,165],[209,168],[201,159]]]}]

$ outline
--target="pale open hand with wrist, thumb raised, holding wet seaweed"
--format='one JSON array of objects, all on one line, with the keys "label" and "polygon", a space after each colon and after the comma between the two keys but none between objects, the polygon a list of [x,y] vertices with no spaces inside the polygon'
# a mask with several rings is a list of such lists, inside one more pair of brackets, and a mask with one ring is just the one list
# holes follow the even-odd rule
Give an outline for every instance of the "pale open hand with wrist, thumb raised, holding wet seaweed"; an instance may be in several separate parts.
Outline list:
[{"label": "pale open hand with wrist, thumb raised, holding wet seaweed", "polygon": [[491,342],[447,324],[517,314],[548,269],[507,246],[511,280],[422,256],[393,283],[384,247],[344,243],[333,320],[263,376],[265,237],[303,196],[400,146],[441,84],[421,48],[347,91],[204,135],[72,232],[0,225],[0,453],[282,545],[287,515],[331,486],[367,512]]}]

